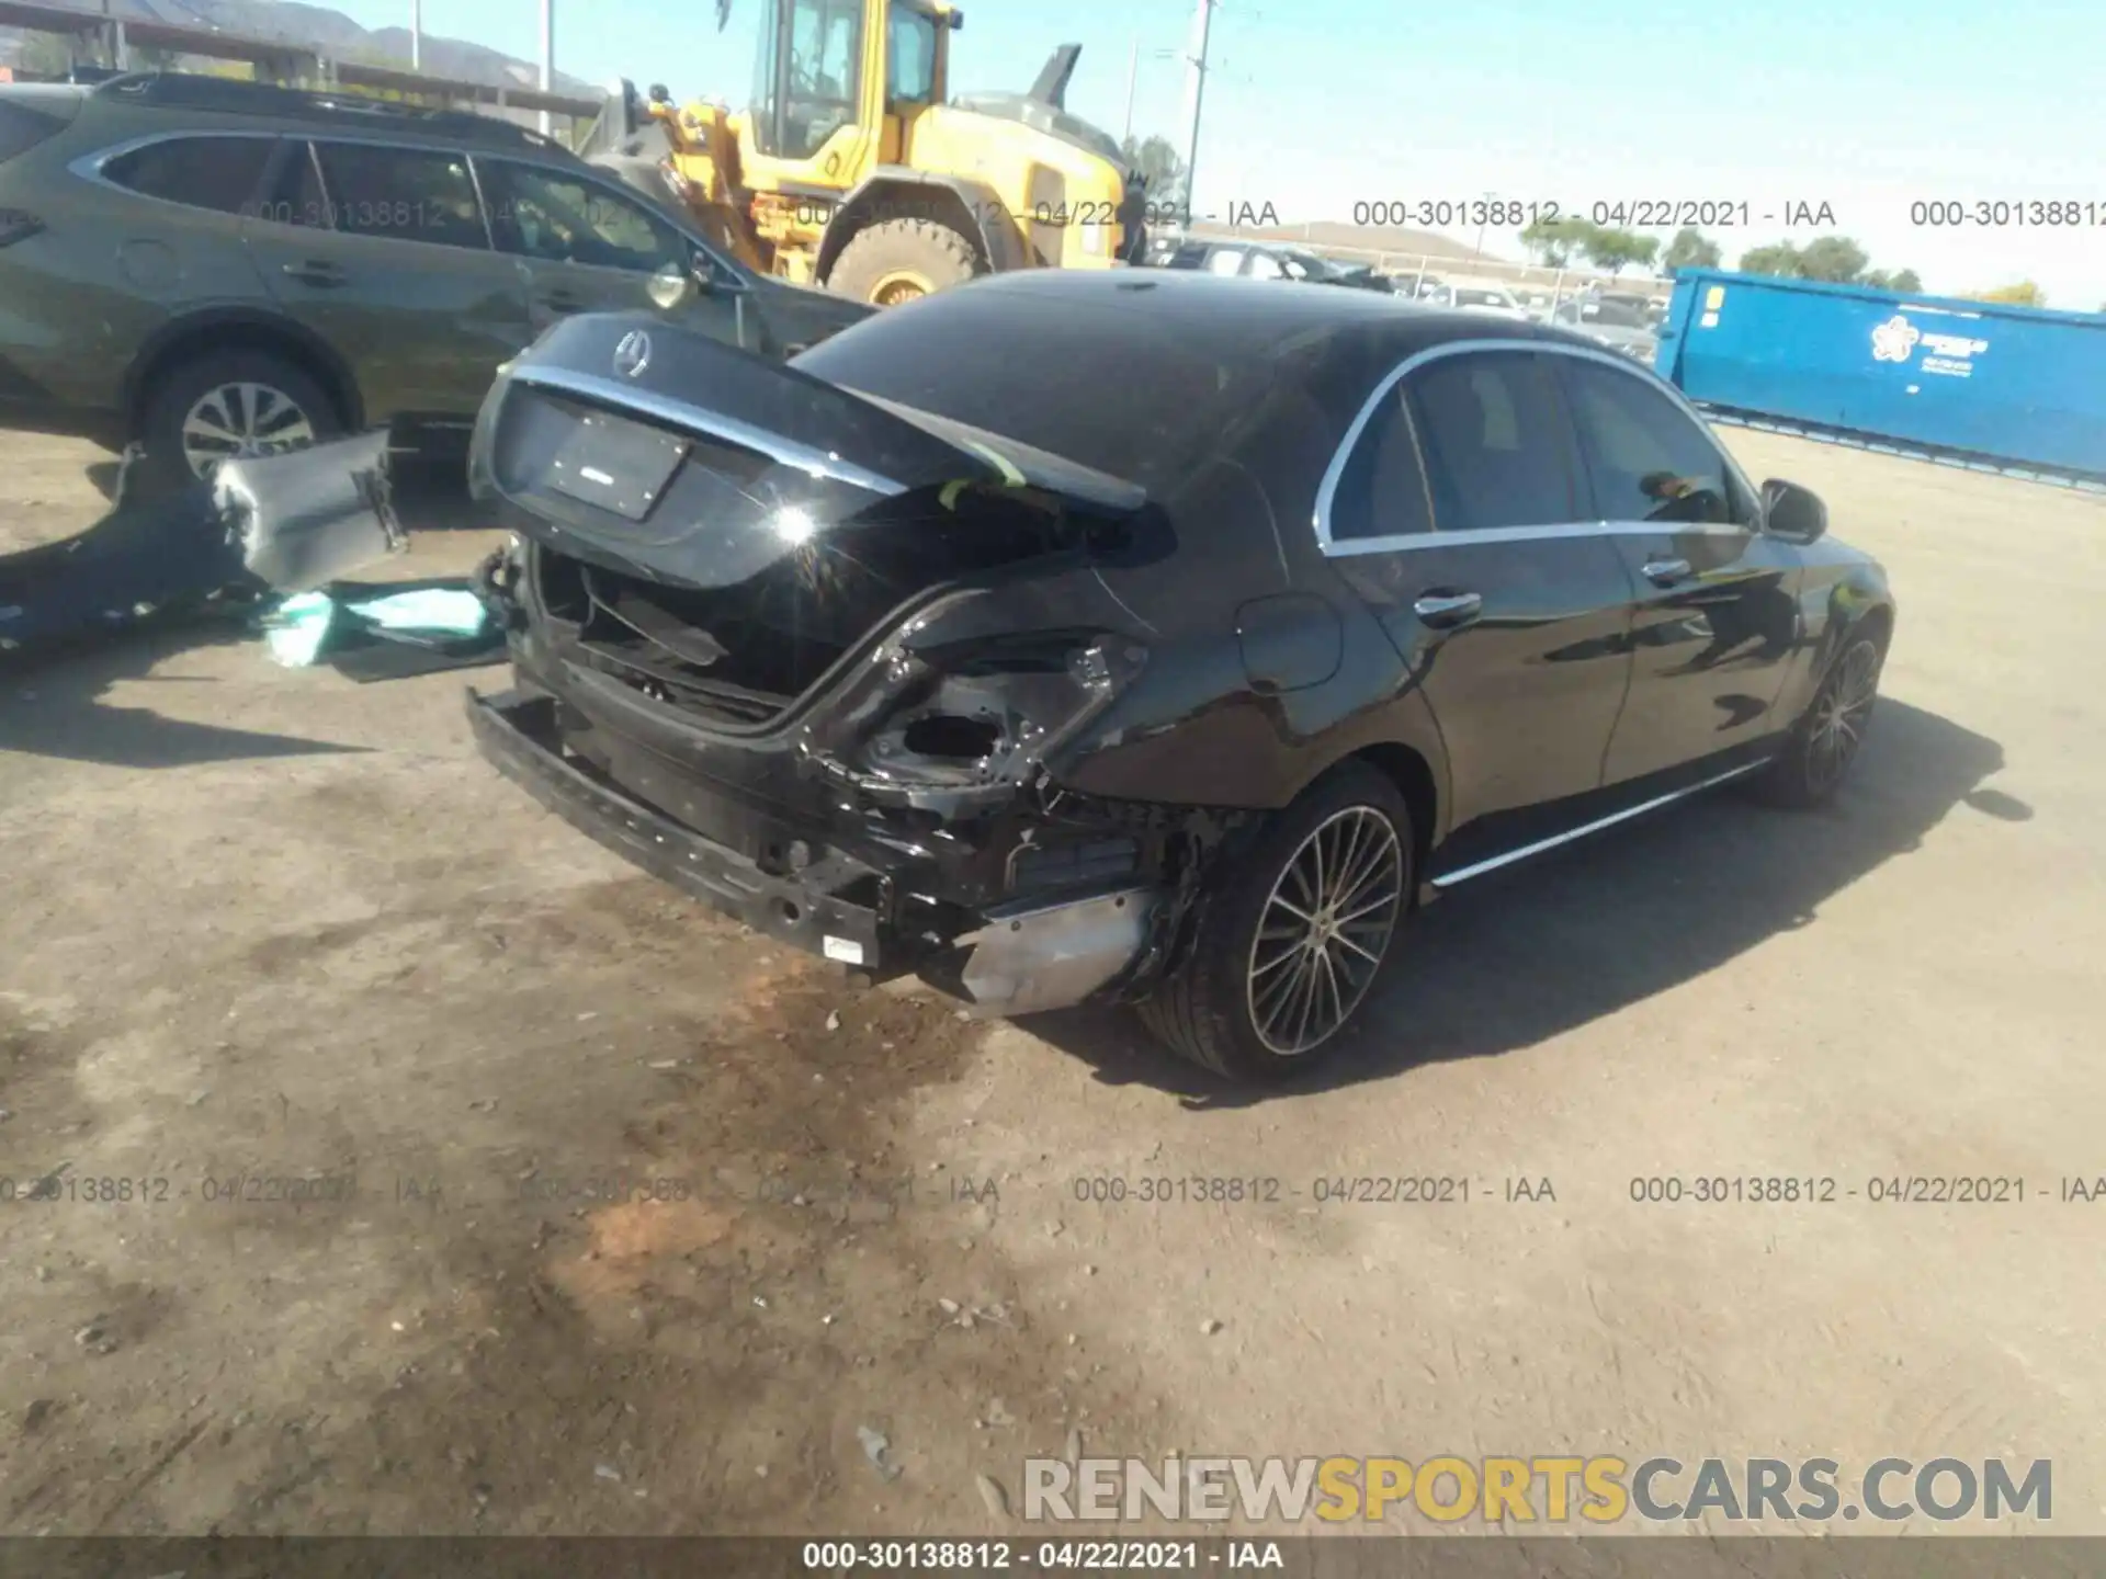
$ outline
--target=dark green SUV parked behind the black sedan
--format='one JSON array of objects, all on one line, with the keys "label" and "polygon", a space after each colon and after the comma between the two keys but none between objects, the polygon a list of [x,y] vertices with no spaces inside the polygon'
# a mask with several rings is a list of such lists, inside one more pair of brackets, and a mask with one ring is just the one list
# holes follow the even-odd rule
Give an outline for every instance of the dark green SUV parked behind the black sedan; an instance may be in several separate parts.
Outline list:
[{"label": "dark green SUV parked behind the black sedan", "polygon": [[505,120],[179,74],[0,86],[0,423],[137,442],[147,482],[383,421],[465,440],[499,362],[638,307],[764,356],[870,312]]}]

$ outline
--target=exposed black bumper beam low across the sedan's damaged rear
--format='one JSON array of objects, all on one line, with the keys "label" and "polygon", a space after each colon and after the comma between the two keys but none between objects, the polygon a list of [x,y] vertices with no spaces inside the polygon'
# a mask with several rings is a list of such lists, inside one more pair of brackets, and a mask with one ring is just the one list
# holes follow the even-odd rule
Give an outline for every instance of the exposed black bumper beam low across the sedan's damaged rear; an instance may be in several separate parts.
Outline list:
[{"label": "exposed black bumper beam low across the sedan's damaged rear", "polygon": [[468,693],[468,716],[482,754],[535,800],[657,878],[779,937],[842,964],[882,971],[882,922],[868,905],[836,891],[870,876],[847,857],[830,857],[796,878],[775,878],[737,851],[632,800],[560,756],[556,699],[539,691]]}]

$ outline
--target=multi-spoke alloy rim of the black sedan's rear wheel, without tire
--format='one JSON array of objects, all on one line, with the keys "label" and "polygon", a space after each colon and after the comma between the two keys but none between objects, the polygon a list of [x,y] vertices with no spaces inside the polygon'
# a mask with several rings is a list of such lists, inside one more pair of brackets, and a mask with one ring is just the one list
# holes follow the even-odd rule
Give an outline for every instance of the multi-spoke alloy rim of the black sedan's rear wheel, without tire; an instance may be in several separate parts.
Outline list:
[{"label": "multi-spoke alloy rim of the black sedan's rear wheel, without tire", "polygon": [[1314,1053],[1360,1006],[1405,901],[1405,851],[1373,806],[1318,823],[1257,914],[1247,992],[1257,1038],[1280,1057]]}]

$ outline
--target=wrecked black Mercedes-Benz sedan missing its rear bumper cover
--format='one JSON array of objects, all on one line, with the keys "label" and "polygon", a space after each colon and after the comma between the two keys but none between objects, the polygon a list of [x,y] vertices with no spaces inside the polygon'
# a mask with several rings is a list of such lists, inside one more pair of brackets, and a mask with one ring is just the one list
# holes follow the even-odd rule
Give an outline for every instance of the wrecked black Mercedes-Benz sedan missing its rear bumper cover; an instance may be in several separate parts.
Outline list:
[{"label": "wrecked black Mercedes-Benz sedan missing its rear bumper cover", "polygon": [[756,931],[1278,1078],[1407,912],[1697,790],[1828,798],[1893,600],[1584,337],[1169,269],[996,276],[790,364],[554,328],[472,480],[482,749]]}]

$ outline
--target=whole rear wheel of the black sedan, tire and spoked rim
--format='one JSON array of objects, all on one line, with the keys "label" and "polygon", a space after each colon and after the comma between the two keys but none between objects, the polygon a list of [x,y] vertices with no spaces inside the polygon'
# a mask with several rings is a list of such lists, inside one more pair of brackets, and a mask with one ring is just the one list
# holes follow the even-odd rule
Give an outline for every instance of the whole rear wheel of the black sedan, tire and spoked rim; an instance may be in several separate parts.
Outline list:
[{"label": "whole rear wheel of the black sedan, tire and spoked rim", "polygon": [[1184,964],[1141,1021],[1215,1074],[1285,1080],[1342,1040],[1390,954],[1411,905],[1411,811],[1388,777],[1354,762],[1217,874]]}]

